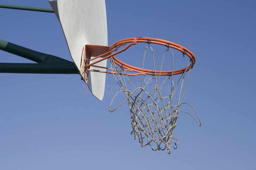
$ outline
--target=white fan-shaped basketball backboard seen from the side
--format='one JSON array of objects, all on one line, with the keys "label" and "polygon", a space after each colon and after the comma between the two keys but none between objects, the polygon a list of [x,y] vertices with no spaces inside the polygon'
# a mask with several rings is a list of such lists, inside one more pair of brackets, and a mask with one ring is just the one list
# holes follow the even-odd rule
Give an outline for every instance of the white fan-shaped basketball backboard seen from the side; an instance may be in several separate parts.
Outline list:
[{"label": "white fan-shaped basketball backboard seen from the side", "polygon": [[[84,45],[108,45],[105,0],[58,0],[49,3],[60,21],[71,57],[80,70]],[[106,67],[107,60],[100,61],[96,66]],[[106,70],[98,67],[91,69]],[[104,96],[105,79],[105,73],[89,72],[87,85],[99,100]]]}]

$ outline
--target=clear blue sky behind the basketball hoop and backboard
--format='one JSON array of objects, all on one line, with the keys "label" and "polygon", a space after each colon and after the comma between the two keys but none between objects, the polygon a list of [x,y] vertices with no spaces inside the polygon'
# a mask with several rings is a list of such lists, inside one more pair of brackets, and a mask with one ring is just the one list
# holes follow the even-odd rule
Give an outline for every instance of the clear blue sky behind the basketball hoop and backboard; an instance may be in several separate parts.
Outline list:
[{"label": "clear blue sky behind the basketball hoop and backboard", "polygon": [[[47,0],[0,3],[50,8]],[[107,0],[108,45],[155,37],[195,54],[184,102],[196,108],[202,126],[181,115],[178,149],[153,152],[130,134],[128,104],[108,112],[113,94],[100,102],[81,93],[79,75],[1,73],[0,169],[255,169],[255,7],[249,0]],[[0,16],[1,39],[72,60],[53,13],[0,9]],[[115,85],[112,75],[106,85]]]}]

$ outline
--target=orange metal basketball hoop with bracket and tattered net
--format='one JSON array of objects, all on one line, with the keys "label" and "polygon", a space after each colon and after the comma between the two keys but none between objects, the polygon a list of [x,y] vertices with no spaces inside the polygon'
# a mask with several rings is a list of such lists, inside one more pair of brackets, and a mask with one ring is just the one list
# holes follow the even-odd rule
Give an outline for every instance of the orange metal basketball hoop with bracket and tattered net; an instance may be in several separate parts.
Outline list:
[{"label": "orange metal basketball hoop with bracket and tattered net", "polygon": [[[144,52],[142,67],[134,67],[116,58],[117,54],[124,52],[130,46],[136,45],[137,43],[148,44]],[[151,44],[166,47],[163,52],[160,70],[156,70],[154,50],[151,47]],[[120,48],[122,46],[123,49]],[[145,54],[148,49],[152,51],[154,69],[144,68]],[[181,52],[182,57],[187,56],[189,58],[187,67],[176,70],[173,69],[174,54],[172,50],[178,50]],[[93,56],[96,57],[91,58],[92,53],[94,53]],[[164,71],[162,70],[162,67],[164,55],[166,53],[172,54],[172,64],[170,65],[169,70]],[[179,113],[187,113],[196,120],[199,126],[201,126],[201,121],[194,107],[189,103],[182,103],[190,70],[196,62],[194,54],[187,48],[162,39],[137,37],[122,39],[109,47],[86,45],[84,47],[82,58],[83,62],[80,74],[84,81],[86,81],[88,71],[113,74],[121,90],[113,97],[109,105],[109,111],[115,111],[123,105],[126,100],[128,101],[132,120],[131,134],[134,134],[135,139],[139,138],[139,142],[142,147],[149,145],[153,151],[167,149],[170,154],[170,147],[172,143],[173,148],[176,149],[179,140],[177,138],[173,138],[172,135],[173,130],[176,127],[176,121]],[[104,67],[108,71],[90,69],[90,66],[98,67],[95,66],[95,64],[102,60],[106,60],[107,58],[110,58],[111,60],[111,67]],[[130,78],[130,76],[135,75],[141,75],[140,86],[135,86],[134,82],[132,82]],[[145,79],[146,75],[148,76],[146,77],[148,79]],[[163,94],[163,89],[166,86],[170,87],[169,93]],[[175,96],[177,91],[178,95]],[[120,93],[123,93],[126,96],[125,100],[119,104],[118,107],[111,109],[114,99]],[[195,112],[197,118],[188,111],[180,110],[180,107],[183,105],[189,106],[192,111]]]}]

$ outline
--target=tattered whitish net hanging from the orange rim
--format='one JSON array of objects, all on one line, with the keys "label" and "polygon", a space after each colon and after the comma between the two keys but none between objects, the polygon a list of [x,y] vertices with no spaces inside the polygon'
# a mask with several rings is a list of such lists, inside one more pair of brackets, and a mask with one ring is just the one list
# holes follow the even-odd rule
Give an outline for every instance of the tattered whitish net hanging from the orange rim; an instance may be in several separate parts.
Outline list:
[{"label": "tattered whitish net hanging from the orange rim", "polygon": [[[154,70],[156,72],[154,50],[151,46],[147,46],[143,57],[142,73],[145,54],[148,49],[152,51]],[[164,63],[164,56],[167,52],[172,54],[170,70],[173,70],[173,52],[168,48],[163,53],[160,74]],[[142,147],[149,145],[153,151],[167,149],[169,154],[171,153],[171,145],[176,149],[179,140],[173,138],[172,135],[176,127],[177,118],[181,112],[192,116],[198,125],[201,126],[196,110],[189,103],[182,103],[191,69],[191,62],[182,74],[160,76],[152,73],[152,76],[141,75],[141,84],[136,86],[132,83],[131,77],[127,76],[127,70],[122,67],[118,69],[117,67],[119,66],[116,66],[113,58],[110,58],[110,60],[111,68],[115,70],[114,78],[121,90],[113,97],[109,111],[115,111],[128,100],[132,120],[131,134],[134,134],[135,139],[139,139]],[[120,93],[123,93],[126,99],[118,107],[110,109],[114,99]],[[198,120],[193,114],[181,111],[180,106],[182,105],[190,106]]]}]

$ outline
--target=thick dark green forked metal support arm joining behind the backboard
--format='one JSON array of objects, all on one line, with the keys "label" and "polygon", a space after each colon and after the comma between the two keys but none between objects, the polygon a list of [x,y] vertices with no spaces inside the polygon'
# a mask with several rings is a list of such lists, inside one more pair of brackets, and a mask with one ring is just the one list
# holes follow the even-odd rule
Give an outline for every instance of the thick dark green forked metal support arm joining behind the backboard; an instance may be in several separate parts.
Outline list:
[{"label": "thick dark green forked metal support arm joining behind the backboard", "polygon": [[0,63],[0,73],[79,74],[74,62],[0,39],[0,50],[37,63]]}]

